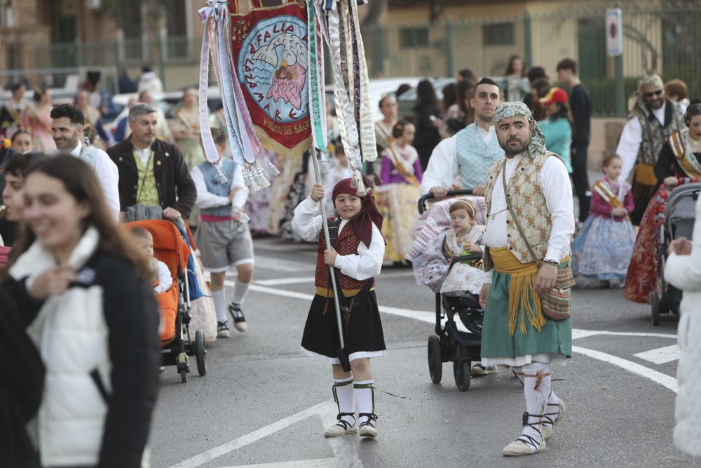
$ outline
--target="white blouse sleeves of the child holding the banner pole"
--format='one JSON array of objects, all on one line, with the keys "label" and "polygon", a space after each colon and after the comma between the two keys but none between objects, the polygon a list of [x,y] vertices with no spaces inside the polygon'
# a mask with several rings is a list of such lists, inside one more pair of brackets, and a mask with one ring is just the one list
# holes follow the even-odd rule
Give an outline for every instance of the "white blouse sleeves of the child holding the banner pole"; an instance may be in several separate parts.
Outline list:
[{"label": "white blouse sleeves of the child holding the banner pole", "polygon": [[[319,203],[307,197],[294,208],[292,229],[305,241],[315,242],[319,239],[323,220],[319,213]],[[330,213],[329,213],[330,215]],[[341,220],[339,232],[348,221]],[[351,278],[362,281],[380,274],[382,259],[385,256],[385,242],[380,230],[372,225],[372,240],[369,246],[360,242],[358,255],[339,255],[336,257],[334,267],[341,269],[341,273]]]}]

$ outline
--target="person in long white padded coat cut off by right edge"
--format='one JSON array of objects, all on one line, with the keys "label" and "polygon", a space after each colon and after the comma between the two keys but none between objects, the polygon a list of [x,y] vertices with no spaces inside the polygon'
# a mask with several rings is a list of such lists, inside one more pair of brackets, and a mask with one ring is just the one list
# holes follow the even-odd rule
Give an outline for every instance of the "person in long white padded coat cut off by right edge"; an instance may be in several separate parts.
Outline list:
[{"label": "person in long white padded coat cut off by right edge", "polygon": [[665,279],[683,290],[674,445],[684,453],[701,457],[701,200],[696,203],[693,239],[680,238],[669,245]]}]

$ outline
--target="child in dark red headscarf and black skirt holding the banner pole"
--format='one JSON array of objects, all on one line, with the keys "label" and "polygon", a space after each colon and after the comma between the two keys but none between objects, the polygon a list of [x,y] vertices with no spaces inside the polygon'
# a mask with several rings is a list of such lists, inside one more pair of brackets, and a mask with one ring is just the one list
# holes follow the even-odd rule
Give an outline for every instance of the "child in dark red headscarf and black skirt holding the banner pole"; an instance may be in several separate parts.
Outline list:
[{"label": "child in dark red headscarf and black skirt holding the banner pole", "polygon": [[[339,415],[338,422],[326,429],[325,436],[359,431],[361,437],[376,437],[370,358],[386,354],[374,292],[374,276],[380,273],[385,248],[380,234],[382,216],[372,194],[359,196],[348,178],[338,182],[333,191],[339,217],[327,219],[325,207],[320,203],[324,199],[324,185],[320,183],[318,161],[312,159],[318,182],[311,196],[297,206],[292,219],[297,234],[307,241],[319,241],[316,295],[304,327],[302,347],[306,354],[326,356],[332,364]],[[322,214],[318,215],[320,208]],[[355,400],[358,401],[357,426]]]}]

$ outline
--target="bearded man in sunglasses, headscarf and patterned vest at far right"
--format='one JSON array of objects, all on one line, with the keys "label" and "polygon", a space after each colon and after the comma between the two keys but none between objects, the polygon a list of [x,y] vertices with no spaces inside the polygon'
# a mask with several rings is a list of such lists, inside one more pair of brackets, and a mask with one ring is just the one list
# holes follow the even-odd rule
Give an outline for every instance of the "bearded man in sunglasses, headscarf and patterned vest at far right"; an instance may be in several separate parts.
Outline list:
[{"label": "bearded man in sunglasses, headscarf and patterned vest at far right", "polygon": [[630,219],[638,226],[658,186],[653,168],[660,149],[669,135],[683,128],[683,119],[679,104],[665,97],[665,83],[656,74],[643,76],[634,98],[615,152],[623,160],[621,180],[634,169],[635,210]]}]

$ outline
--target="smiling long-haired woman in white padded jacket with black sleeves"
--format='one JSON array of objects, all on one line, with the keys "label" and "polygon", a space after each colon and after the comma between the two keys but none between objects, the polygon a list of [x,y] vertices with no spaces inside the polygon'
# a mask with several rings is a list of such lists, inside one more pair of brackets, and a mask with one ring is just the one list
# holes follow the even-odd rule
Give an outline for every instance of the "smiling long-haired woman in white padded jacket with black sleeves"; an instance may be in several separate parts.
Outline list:
[{"label": "smiling long-haired woman in white padded jacket with black sleeves", "polygon": [[46,367],[30,433],[41,466],[145,466],[160,362],[148,260],[78,158],[39,161],[23,190],[4,285]]}]

